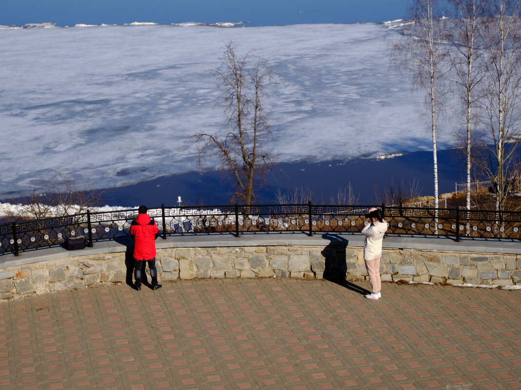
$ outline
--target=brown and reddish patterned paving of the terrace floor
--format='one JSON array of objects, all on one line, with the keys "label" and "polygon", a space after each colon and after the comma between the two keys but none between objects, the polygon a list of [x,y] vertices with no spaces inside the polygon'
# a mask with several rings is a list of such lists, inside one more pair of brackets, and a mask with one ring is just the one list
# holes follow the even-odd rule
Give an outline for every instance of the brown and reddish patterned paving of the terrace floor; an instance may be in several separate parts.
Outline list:
[{"label": "brown and reddish patterned paving of the terrace floor", "polygon": [[521,388],[519,291],[354,290],[207,279],[11,300],[0,389]]}]

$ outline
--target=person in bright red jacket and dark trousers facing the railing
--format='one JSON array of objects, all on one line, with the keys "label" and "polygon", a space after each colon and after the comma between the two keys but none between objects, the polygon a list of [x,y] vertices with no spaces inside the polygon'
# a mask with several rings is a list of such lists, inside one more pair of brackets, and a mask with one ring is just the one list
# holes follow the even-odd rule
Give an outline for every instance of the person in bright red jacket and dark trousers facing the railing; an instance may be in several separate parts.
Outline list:
[{"label": "person in bright red jacket and dark trousers facing the railing", "polygon": [[159,233],[157,225],[147,214],[146,206],[139,206],[138,217],[130,224],[130,235],[134,238],[134,279],[135,289],[141,290],[141,277],[144,276],[146,282],[146,263],[152,277],[152,290],[162,287],[157,284],[156,270],[156,243],[155,239]]}]

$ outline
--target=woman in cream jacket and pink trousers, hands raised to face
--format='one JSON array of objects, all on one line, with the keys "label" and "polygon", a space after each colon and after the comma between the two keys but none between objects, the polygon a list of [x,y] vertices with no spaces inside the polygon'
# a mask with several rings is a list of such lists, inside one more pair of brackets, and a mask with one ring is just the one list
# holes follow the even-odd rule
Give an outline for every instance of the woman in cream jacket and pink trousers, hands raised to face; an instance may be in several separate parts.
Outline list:
[{"label": "woman in cream jacket and pink trousers, hands raised to face", "polygon": [[369,210],[369,221],[362,230],[365,236],[364,241],[364,261],[365,268],[369,274],[371,282],[371,294],[365,297],[371,300],[377,300],[382,296],[380,290],[382,288],[380,281],[380,258],[382,257],[382,239],[385,235],[389,224],[383,220],[382,212],[375,208]]}]

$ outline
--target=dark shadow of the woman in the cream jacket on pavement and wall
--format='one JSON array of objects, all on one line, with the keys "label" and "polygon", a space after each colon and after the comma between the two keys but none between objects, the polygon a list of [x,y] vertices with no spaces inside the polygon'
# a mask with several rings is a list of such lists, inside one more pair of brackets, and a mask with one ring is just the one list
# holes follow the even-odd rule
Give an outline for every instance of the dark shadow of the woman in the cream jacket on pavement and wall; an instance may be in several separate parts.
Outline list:
[{"label": "dark shadow of the woman in the cream jacket on pavement and wall", "polygon": [[345,279],[345,274],[348,271],[345,258],[345,248],[348,246],[348,240],[332,233],[324,233],[322,238],[330,241],[326,248],[322,250],[322,256],[326,260],[324,279],[361,295],[370,294],[370,291]]}]

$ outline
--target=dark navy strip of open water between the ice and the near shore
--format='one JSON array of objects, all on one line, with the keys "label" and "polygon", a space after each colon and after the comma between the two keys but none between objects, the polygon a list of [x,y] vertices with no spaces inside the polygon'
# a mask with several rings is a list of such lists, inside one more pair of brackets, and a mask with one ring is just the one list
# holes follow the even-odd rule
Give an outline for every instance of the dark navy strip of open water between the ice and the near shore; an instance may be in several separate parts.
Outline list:
[{"label": "dark navy strip of open water between the ice and the near shore", "polygon": [[[295,187],[313,192],[314,203],[329,203],[330,196],[339,188],[351,183],[358,196],[358,204],[374,204],[378,201],[375,185],[383,190],[392,183],[406,187],[416,181],[420,195],[432,195],[432,152],[412,152],[386,160],[357,159],[347,162],[282,163],[277,168],[283,173],[266,176],[264,187],[256,191],[257,203],[276,203],[276,194],[293,193]],[[465,170],[455,150],[438,151],[439,191],[452,192],[456,182],[463,183]],[[177,197],[183,205],[228,204],[231,198],[231,182],[220,172],[210,171],[203,175],[189,172],[156,178],[150,181],[108,189],[106,204],[111,206],[135,206],[147,204],[158,206],[177,205]]]}]

